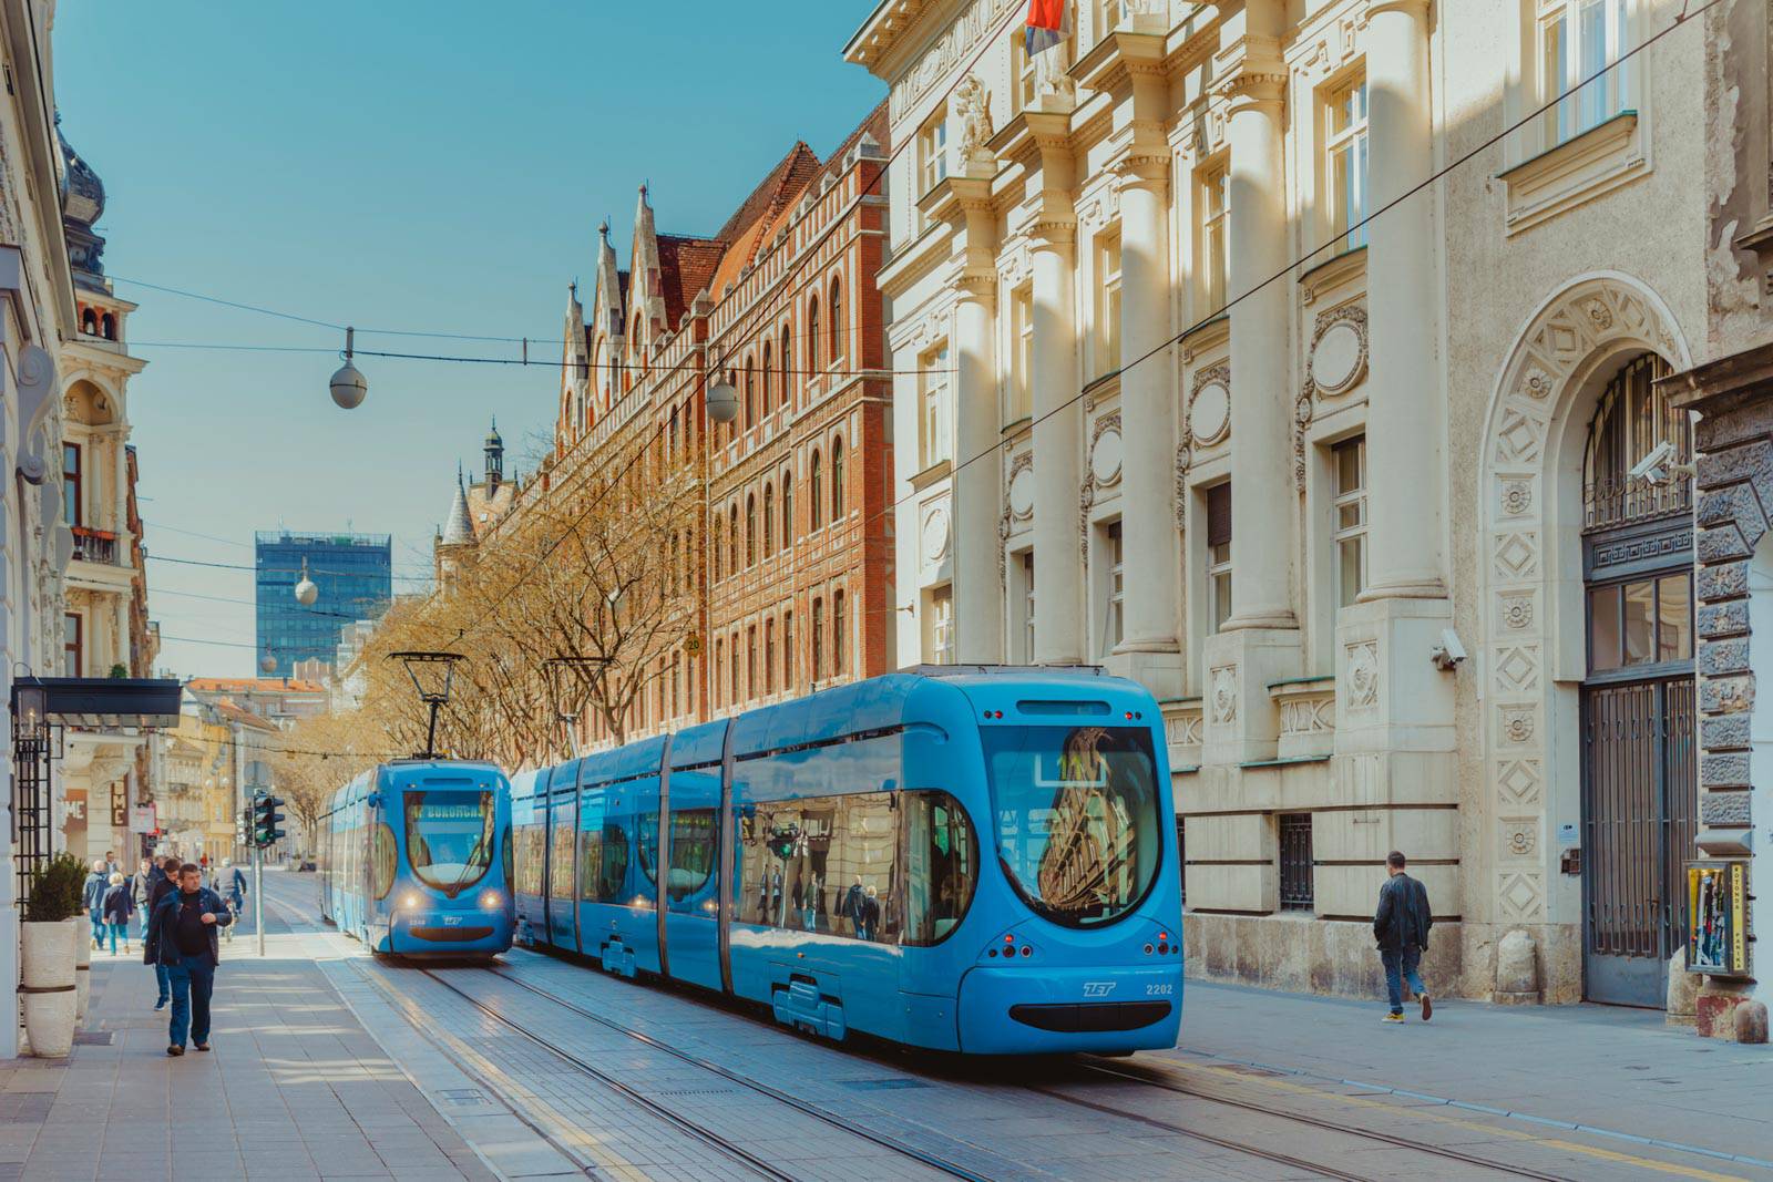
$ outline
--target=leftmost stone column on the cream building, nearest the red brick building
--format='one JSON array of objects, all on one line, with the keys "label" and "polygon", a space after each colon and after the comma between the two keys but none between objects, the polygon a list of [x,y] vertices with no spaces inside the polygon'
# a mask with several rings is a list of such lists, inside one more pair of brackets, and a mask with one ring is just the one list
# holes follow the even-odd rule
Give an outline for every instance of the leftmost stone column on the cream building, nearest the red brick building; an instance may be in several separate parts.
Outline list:
[{"label": "leftmost stone column on the cream building, nearest the red brick building", "polygon": [[[954,308],[954,615],[961,665],[1004,661],[998,585],[998,441],[993,307],[996,275],[963,275]],[[968,463],[973,461],[973,463]]]}]

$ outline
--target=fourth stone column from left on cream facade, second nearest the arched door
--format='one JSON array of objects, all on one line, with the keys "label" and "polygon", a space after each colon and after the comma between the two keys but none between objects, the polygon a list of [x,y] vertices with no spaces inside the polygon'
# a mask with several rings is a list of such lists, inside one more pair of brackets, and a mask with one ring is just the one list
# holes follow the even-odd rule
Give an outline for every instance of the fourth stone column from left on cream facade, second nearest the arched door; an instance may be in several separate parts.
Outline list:
[{"label": "fourth stone column from left on cream facade, second nearest the arched door", "polygon": [[[1252,50],[1254,53],[1254,50]],[[1241,627],[1296,629],[1293,615],[1293,392],[1287,282],[1259,284],[1287,259],[1280,163],[1285,64],[1250,58],[1230,80],[1230,471],[1232,618]]]}]

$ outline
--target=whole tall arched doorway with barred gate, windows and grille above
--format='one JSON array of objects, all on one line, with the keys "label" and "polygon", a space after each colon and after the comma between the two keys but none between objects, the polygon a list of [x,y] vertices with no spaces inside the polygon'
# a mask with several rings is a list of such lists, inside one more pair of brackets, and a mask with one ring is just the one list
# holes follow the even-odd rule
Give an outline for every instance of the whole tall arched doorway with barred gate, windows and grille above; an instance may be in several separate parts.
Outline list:
[{"label": "whole tall arched doorway with barred gate, windows and grille above", "polygon": [[[1583,459],[1583,996],[1660,1007],[1699,817],[1691,427],[1654,353],[1601,392]],[[1660,480],[1631,470],[1667,445]]]}]

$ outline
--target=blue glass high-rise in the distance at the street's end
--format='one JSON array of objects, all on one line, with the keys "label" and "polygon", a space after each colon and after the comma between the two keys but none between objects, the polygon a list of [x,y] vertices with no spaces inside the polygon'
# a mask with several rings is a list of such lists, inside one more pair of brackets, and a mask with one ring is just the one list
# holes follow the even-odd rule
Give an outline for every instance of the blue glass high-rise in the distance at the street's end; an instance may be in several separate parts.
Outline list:
[{"label": "blue glass high-rise in the distance at the street's end", "polygon": [[[268,677],[289,677],[296,661],[317,657],[328,665],[339,650],[339,631],[353,620],[379,617],[394,595],[394,544],[387,533],[257,533],[259,652],[275,661]],[[301,562],[319,588],[312,604],[296,603]]]}]

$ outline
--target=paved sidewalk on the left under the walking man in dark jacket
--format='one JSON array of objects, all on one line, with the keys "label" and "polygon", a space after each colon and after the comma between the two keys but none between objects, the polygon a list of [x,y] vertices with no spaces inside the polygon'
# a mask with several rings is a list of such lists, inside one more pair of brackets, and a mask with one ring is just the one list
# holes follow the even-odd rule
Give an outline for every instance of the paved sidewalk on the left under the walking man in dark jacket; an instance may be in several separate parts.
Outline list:
[{"label": "paved sidewalk on the left under the walking man in dark jacket", "polygon": [[140,948],[96,953],[74,1054],[0,1063],[0,1178],[493,1178],[298,941],[223,946],[215,1051],[184,1058]]}]

